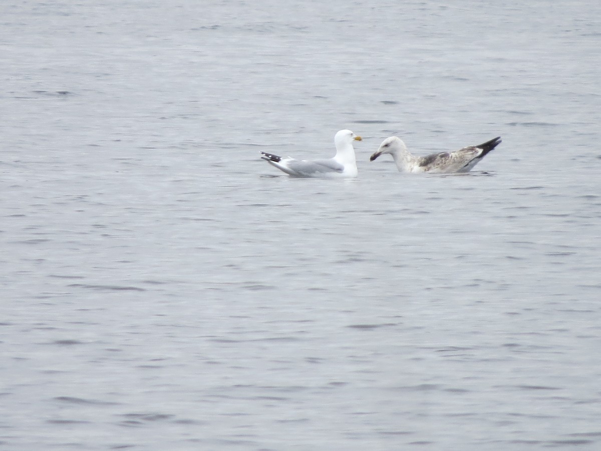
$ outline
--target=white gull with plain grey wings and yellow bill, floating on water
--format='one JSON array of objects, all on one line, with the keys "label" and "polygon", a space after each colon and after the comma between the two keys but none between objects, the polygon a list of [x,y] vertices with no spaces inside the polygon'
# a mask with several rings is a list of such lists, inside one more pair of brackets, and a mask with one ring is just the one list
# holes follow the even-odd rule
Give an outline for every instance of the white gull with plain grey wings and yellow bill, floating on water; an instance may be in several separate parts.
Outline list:
[{"label": "white gull with plain grey wings and yellow bill, floating on water", "polygon": [[361,137],[350,130],[340,130],[336,133],[336,155],[330,159],[297,160],[267,152],[261,152],[261,158],[291,177],[356,177],[357,162],[353,141],[361,141]]}]

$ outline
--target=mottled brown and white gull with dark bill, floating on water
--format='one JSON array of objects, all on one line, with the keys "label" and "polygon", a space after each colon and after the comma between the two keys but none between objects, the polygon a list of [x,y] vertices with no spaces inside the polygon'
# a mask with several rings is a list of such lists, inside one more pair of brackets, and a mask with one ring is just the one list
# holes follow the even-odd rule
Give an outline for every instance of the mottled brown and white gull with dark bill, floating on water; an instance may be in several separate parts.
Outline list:
[{"label": "mottled brown and white gull with dark bill, floating on water", "polygon": [[433,174],[452,174],[470,171],[481,159],[501,143],[501,137],[496,137],[478,146],[463,147],[455,152],[433,153],[427,156],[412,155],[405,143],[397,137],[389,137],[382,141],[380,148],[370,156],[374,161],[380,155],[392,155],[397,168],[401,172],[429,172]]}]

